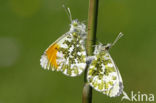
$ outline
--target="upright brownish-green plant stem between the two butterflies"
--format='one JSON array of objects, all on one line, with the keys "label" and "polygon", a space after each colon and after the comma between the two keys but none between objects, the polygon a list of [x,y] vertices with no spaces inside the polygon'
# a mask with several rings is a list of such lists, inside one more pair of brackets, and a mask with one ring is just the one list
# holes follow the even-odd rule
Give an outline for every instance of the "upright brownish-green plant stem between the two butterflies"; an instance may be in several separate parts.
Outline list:
[{"label": "upright brownish-green plant stem between the two butterflies", "polygon": [[[97,17],[98,17],[98,1],[89,1],[89,11],[88,11],[88,35],[86,42],[87,55],[91,56],[93,54],[93,45],[96,43],[96,31],[97,31]],[[82,103],[92,103],[92,88],[87,83],[87,71],[88,65],[85,69],[84,75],[84,87],[82,94]]]}]

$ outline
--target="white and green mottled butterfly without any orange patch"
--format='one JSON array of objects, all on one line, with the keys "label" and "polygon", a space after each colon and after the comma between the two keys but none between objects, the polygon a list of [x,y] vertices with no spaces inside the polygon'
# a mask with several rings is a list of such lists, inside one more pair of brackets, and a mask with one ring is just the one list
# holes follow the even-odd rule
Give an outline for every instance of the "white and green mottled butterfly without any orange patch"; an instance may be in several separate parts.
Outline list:
[{"label": "white and green mottled butterfly without any orange patch", "polygon": [[123,82],[120,72],[109,54],[109,49],[123,36],[118,35],[113,44],[95,46],[94,56],[87,72],[87,80],[96,91],[109,97],[116,97],[123,93]]}]

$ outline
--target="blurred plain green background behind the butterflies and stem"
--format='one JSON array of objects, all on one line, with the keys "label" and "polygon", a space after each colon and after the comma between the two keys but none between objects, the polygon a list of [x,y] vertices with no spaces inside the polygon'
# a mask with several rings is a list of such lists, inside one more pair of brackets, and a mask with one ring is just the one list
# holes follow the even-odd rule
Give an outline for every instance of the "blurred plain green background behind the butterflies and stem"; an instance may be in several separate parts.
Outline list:
[{"label": "blurred plain green background behind the butterflies and stem", "polygon": [[[156,1],[99,0],[97,39],[112,42],[125,91],[156,94]],[[89,0],[0,0],[0,103],[81,103],[83,75],[70,78],[40,66],[44,50],[69,30],[69,18],[86,21]],[[93,90],[93,103],[117,103]],[[124,101],[124,103],[129,103]]]}]

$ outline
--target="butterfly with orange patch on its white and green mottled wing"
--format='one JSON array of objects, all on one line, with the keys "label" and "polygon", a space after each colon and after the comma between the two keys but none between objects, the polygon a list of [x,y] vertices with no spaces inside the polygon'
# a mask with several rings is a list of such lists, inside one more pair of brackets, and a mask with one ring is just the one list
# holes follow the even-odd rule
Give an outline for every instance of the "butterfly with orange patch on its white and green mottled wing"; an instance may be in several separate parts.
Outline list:
[{"label": "butterfly with orange patch on its white and green mottled wing", "polygon": [[72,20],[67,33],[52,43],[41,56],[40,64],[44,69],[61,71],[71,77],[80,75],[86,67],[86,25],[77,19]]}]

